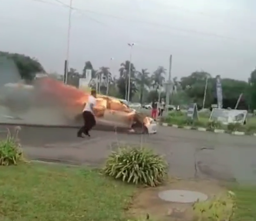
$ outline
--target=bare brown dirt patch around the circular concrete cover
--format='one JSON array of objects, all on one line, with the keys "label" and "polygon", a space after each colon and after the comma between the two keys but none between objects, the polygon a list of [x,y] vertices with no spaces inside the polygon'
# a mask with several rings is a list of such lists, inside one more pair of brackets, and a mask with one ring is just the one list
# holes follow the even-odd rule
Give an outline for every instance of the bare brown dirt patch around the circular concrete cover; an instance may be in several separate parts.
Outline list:
[{"label": "bare brown dirt patch around the circular concrete cover", "polygon": [[169,182],[165,186],[158,188],[139,189],[139,192],[134,197],[131,208],[129,208],[129,215],[134,217],[147,217],[154,220],[192,220],[192,203],[171,203],[161,200],[158,197],[160,191],[168,189],[182,189],[187,191],[197,191],[205,193],[208,199],[214,195],[219,195],[225,192],[225,188],[217,181],[184,181],[177,180]]}]

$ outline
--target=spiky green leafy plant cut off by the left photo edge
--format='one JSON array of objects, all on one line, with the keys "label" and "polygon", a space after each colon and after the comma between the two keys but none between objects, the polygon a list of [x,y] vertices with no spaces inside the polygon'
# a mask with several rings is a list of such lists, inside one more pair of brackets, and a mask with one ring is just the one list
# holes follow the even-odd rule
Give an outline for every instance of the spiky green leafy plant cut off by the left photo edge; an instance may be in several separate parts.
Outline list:
[{"label": "spiky green leafy plant cut off by the left photo edge", "polygon": [[5,140],[0,141],[0,165],[16,165],[18,161],[23,159],[22,150],[20,144],[18,144],[18,132],[20,128],[16,128],[15,136],[11,135],[8,130],[8,134]]}]

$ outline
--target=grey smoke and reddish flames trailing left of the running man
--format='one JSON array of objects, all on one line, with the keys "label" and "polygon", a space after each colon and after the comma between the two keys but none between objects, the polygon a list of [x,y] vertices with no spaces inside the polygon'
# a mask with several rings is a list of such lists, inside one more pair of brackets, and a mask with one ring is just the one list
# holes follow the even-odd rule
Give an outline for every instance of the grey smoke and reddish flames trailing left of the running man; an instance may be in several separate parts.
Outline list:
[{"label": "grey smoke and reddish flames trailing left of the running man", "polygon": [[87,96],[49,77],[5,84],[0,94],[0,123],[38,125],[74,125]]}]

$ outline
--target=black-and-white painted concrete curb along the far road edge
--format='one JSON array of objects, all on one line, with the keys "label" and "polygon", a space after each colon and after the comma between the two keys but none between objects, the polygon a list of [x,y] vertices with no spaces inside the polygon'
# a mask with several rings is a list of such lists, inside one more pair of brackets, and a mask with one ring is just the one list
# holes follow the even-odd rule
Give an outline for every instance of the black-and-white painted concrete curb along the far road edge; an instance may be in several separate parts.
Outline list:
[{"label": "black-and-white painted concrete curb along the far road edge", "polygon": [[161,123],[159,122],[158,125],[162,126],[162,127],[174,127],[174,128],[182,128],[185,130],[196,130],[196,131],[210,131],[210,132],[215,132],[217,134],[232,134],[232,135],[251,135],[256,137],[256,133],[251,134],[251,133],[247,133],[247,132],[242,132],[242,131],[234,131],[234,132],[230,132],[230,131],[225,131],[225,130],[220,130],[220,129],[215,129],[215,130],[211,130],[208,128],[204,128],[204,127],[191,127],[191,126],[179,126],[179,125],[175,125],[175,124],[168,124],[168,123]]}]

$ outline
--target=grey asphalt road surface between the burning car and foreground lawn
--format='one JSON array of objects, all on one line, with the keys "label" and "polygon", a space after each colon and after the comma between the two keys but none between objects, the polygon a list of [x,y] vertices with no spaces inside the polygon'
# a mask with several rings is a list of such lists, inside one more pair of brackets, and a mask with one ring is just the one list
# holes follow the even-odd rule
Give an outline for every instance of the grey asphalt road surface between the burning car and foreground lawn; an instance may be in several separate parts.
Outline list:
[{"label": "grey asphalt road surface between the burning car and foreground lawn", "polygon": [[[1,126],[0,137],[6,136]],[[77,138],[74,128],[22,127],[19,131],[28,158],[101,166],[108,154],[122,144],[146,145],[164,155],[169,173],[181,178],[214,178],[256,183],[256,137],[214,134],[159,127],[153,135],[91,131],[91,138]]]}]

